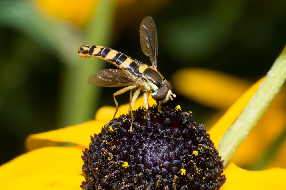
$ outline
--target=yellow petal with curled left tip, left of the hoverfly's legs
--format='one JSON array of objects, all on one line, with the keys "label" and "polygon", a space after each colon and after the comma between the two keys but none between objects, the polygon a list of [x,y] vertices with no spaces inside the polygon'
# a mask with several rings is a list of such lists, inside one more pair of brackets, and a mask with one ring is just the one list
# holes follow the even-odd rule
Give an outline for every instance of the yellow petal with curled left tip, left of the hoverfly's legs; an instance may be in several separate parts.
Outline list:
[{"label": "yellow petal with curled left tip, left of the hoverfly's legs", "polygon": [[52,130],[27,137],[25,145],[27,150],[34,150],[44,146],[57,146],[70,142],[83,147],[88,147],[90,136],[98,134],[107,122],[88,121],[83,124]]}]

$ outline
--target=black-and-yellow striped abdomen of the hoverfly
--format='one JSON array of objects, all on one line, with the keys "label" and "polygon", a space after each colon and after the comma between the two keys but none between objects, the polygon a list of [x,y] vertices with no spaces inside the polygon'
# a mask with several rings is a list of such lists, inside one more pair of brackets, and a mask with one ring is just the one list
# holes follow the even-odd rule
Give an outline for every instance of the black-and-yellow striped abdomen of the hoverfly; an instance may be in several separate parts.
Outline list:
[{"label": "black-and-yellow striped abdomen of the hoverfly", "polygon": [[110,48],[82,45],[78,48],[78,56],[81,58],[99,57],[129,71],[132,75],[138,75],[138,65],[132,59]]}]

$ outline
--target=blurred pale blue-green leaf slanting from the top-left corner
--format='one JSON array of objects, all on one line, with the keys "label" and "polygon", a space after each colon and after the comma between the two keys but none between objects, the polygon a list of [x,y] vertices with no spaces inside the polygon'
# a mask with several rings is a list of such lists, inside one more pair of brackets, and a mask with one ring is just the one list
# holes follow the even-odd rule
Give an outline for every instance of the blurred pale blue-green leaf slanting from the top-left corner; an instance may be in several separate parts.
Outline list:
[{"label": "blurred pale blue-green leaf slanting from the top-left corner", "polygon": [[70,23],[44,18],[35,8],[31,1],[2,1],[0,26],[25,32],[62,62],[74,63],[75,48],[82,41],[80,30]]}]

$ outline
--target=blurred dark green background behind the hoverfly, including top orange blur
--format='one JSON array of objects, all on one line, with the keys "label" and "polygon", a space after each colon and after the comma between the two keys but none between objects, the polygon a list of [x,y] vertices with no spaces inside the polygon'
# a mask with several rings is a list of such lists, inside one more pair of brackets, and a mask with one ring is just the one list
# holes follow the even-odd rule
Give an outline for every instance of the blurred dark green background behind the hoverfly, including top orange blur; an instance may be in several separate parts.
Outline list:
[{"label": "blurred dark green background behind the hoverfly, including top orange blur", "polygon": [[[256,81],[286,42],[282,0],[68,2],[0,2],[0,164],[25,152],[29,134],[78,124],[99,107],[114,106],[117,89],[86,82],[112,66],[79,58],[77,48],[108,46],[150,63],[139,41],[147,15],[157,26],[158,70],[166,79],[200,67]],[[119,104],[128,97],[119,96]],[[178,104],[202,123],[214,111],[180,94],[169,103]]]}]

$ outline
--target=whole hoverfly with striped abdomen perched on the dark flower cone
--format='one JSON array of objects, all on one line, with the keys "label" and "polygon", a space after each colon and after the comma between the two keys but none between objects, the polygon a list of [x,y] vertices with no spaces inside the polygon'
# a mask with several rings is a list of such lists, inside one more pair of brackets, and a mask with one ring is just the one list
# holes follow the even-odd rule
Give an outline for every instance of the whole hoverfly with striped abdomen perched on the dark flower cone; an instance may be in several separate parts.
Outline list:
[{"label": "whole hoverfly with striped abdomen perched on the dark flower cone", "polygon": [[[152,66],[132,60],[127,55],[116,50],[102,47],[82,45],[78,48],[78,56],[81,58],[98,57],[111,62],[119,69],[104,69],[94,73],[88,78],[88,83],[99,87],[124,87],[113,94],[113,99],[118,111],[118,103],[115,96],[130,91],[129,111],[131,112],[131,126],[133,124],[132,106],[140,91],[144,92],[143,99],[145,108],[148,109],[148,97],[151,94],[156,101],[158,110],[161,111],[161,102],[166,103],[176,97],[172,93],[172,85],[157,70],[157,30],[152,17],[145,17],[140,25],[140,42],[143,53],[151,60]],[[132,96],[132,91],[135,93]]]}]

